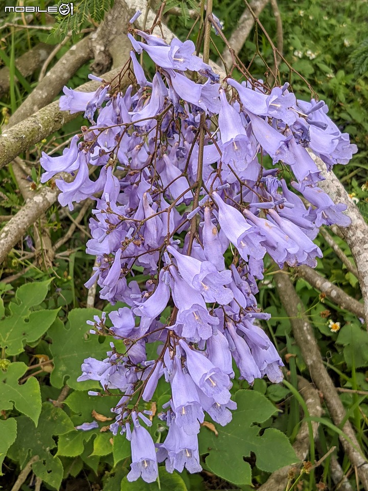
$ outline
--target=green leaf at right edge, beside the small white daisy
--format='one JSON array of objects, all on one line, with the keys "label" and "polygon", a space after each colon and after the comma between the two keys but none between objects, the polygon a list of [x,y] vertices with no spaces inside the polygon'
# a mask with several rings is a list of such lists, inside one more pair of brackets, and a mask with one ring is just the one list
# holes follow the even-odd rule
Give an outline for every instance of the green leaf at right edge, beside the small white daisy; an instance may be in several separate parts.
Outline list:
[{"label": "green leaf at right edge, beside the small white daisy", "polygon": [[341,327],[337,344],[343,348],[344,360],[349,369],[366,367],[368,363],[368,336],[365,329],[352,322]]}]

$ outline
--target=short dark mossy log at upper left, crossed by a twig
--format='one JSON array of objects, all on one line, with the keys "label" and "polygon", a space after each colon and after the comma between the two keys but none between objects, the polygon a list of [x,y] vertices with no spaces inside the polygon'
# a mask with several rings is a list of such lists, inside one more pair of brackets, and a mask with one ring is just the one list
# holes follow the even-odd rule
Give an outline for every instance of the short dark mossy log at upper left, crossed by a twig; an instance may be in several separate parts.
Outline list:
[{"label": "short dark mossy log at upper left, crossed by a twig", "polygon": [[[15,60],[15,66],[21,75],[28,77],[41,67],[43,61],[49,56],[53,49],[54,46],[52,44],[39,42],[34,48],[19,56],[19,58]],[[0,70],[0,97],[6,94],[9,91],[9,88],[9,68],[4,66]]]}]

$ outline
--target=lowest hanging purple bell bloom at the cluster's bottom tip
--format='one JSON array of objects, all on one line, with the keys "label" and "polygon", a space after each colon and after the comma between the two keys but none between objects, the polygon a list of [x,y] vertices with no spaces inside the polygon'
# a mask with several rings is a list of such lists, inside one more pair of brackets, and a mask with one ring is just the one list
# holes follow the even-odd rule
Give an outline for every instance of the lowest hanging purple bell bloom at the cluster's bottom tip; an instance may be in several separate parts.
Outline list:
[{"label": "lowest hanging purple bell bloom at the cluster's bottom tip", "polygon": [[137,421],[134,422],[131,432],[131,471],[127,475],[128,481],[136,481],[139,477],[146,482],[157,479],[158,468],[156,449],[151,435]]}]

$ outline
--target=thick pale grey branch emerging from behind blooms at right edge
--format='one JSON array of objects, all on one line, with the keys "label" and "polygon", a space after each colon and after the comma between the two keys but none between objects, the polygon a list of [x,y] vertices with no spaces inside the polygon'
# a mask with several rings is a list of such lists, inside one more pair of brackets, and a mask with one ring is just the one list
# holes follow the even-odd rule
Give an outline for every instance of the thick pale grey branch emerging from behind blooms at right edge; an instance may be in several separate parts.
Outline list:
[{"label": "thick pale grey branch emerging from behind blooms at right edge", "polygon": [[325,177],[325,181],[320,181],[318,186],[335,203],[344,203],[348,207],[346,214],[350,216],[352,223],[349,227],[340,227],[340,231],[350,247],[357,266],[358,280],[364,300],[364,316],[361,317],[368,320],[368,225],[335,174],[327,172],[326,164],[313,153],[310,152],[310,154]]}]

